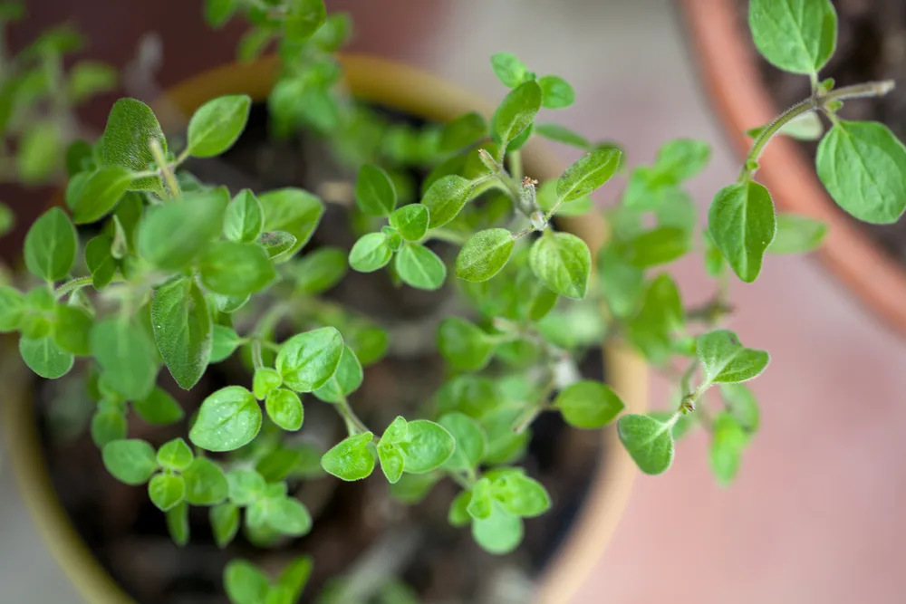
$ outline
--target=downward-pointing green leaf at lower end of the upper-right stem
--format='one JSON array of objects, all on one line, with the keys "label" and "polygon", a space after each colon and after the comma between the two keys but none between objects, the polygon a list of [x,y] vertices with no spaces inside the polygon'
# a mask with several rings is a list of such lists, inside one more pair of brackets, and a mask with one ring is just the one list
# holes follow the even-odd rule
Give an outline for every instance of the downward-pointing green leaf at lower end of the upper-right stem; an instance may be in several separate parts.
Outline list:
[{"label": "downward-pointing green leaf at lower end of the upper-right stem", "polygon": [[708,210],[708,233],[733,272],[746,283],[754,282],[761,272],[776,230],[774,202],[757,182],[720,189]]}]

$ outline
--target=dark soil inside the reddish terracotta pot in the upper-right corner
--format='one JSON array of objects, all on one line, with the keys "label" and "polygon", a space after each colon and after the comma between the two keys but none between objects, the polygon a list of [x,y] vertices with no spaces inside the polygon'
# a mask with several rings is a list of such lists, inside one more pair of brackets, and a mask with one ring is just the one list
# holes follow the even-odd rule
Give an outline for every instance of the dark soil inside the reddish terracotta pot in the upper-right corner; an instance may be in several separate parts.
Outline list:
[{"label": "dark soil inside the reddish terracotta pot in the upper-right corner", "polygon": [[[840,116],[845,120],[880,121],[889,126],[898,139],[906,140],[906,2],[833,2],[839,21],[837,50],[821,71],[821,77],[834,78],[837,87],[876,80],[897,83],[892,92],[880,99],[847,101]],[[739,5],[743,31],[748,32],[748,2],[740,0]],[[776,101],[778,110],[802,101],[810,94],[811,84],[806,76],[778,70],[760,55],[759,64],[767,90]],[[814,160],[817,142],[800,144]],[[906,264],[906,220],[893,225],[867,225],[852,220],[887,254]]]}]

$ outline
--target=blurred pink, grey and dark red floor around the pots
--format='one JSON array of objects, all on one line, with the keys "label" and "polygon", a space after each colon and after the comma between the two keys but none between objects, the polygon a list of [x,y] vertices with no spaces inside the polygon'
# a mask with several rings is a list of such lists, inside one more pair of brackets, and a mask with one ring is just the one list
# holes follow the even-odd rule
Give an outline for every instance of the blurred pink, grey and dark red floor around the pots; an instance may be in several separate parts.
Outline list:
[{"label": "blurred pink, grey and dark red floor around the pots", "polygon": [[[516,53],[536,72],[563,76],[576,103],[560,120],[591,139],[620,141],[632,163],[651,161],[667,139],[707,140],[713,159],[689,187],[702,210],[736,178],[737,158],[708,106],[679,7],[668,0],[327,4],[352,12],[353,51],[416,65],[492,100],[505,90],[489,67],[491,53]],[[28,18],[9,33],[12,48],[68,20],[91,40],[86,56],[124,68],[153,36],[159,69],[154,81],[132,82],[129,92],[140,98],[231,61],[244,31],[239,23],[210,31],[198,0],[27,5]],[[154,39],[145,44],[146,51],[157,47]],[[99,132],[115,97],[92,101],[83,113]],[[564,147],[555,151],[564,164],[575,158]],[[603,187],[600,203],[617,193],[619,187]],[[0,198],[24,211],[22,224],[28,212],[41,211],[47,194],[0,189]],[[708,299],[698,257],[674,272],[690,303]],[[814,258],[768,256],[757,283],[735,282],[731,297],[738,311],[730,327],[747,346],[773,356],[751,384],[763,424],[736,484],[718,487],[707,438],[689,436],[670,472],[636,481],[622,523],[574,601],[904,601],[906,346]],[[668,396],[667,385],[652,377],[652,401],[660,406]],[[0,586],[3,604],[80,601],[39,540],[2,460]]]}]

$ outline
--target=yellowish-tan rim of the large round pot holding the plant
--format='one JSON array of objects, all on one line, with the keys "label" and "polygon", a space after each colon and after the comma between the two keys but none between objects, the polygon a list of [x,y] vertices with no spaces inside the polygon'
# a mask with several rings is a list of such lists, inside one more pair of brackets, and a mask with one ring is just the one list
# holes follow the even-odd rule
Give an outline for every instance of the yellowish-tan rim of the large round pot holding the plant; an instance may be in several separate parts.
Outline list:
[{"label": "yellowish-tan rim of the large round pot holding the plant", "polygon": [[[342,62],[352,92],[362,101],[374,101],[439,121],[466,110],[488,112],[491,109],[487,102],[447,81],[397,63],[355,55],[342,57]],[[227,65],[176,86],[152,106],[166,130],[168,122],[184,122],[203,102],[219,95],[246,93],[256,101],[263,101],[271,90],[275,72],[273,58],[254,64]],[[556,177],[562,171],[558,160],[537,144],[526,147],[524,161],[526,172],[539,179]],[[593,250],[606,236],[606,225],[601,218],[583,216],[581,220],[564,221],[563,225],[581,236]],[[16,354],[14,350],[8,353]],[[648,369],[644,362],[619,345],[608,346],[604,357],[609,383],[622,396],[627,412],[643,412],[648,390]],[[31,393],[25,388],[28,374],[20,367],[15,361],[0,363],[0,378],[7,392],[3,423],[11,452],[9,459],[34,522],[84,599],[91,604],[134,604],[92,557],[53,492],[34,424]],[[602,438],[601,463],[583,508],[541,578],[541,602],[560,603],[572,598],[601,557],[629,498],[635,465],[623,450],[615,427],[603,430]]]}]

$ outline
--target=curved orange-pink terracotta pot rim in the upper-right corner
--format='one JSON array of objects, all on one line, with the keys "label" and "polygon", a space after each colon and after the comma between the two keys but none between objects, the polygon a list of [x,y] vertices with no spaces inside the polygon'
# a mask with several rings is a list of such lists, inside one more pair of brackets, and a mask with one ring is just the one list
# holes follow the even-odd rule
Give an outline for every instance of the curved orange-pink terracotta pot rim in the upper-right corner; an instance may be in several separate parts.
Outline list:
[{"label": "curved orange-pink terracotta pot rim in the upper-right corner", "polygon": [[[751,34],[736,0],[683,0],[689,43],[708,95],[724,128],[744,158],[746,130],[762,126],[784,109],[776,107],[758,71]],[[843,82],[849,83],[849,82]],[[758,180],[782,209],[812,216],[829,226],[821,259],[855,295],[906,334],[906,272],[836,206],[814,171],[814,162],[793,139],[771,140],[760,160]]]}]

